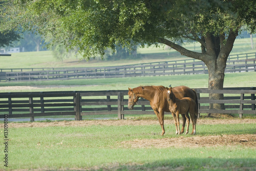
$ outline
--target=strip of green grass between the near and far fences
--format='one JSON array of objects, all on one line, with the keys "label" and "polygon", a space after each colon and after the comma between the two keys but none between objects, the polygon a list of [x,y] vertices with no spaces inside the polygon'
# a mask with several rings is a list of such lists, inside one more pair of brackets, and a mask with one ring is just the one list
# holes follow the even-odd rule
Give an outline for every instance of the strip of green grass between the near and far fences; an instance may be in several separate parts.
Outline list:
[{"label": "strip of green grass between the near and far fences", "polygon": [[[255,72],[236,72],[225,74],[224,87],[255,86]],[[53,86],[54,85],[54,86]],[[0,92],[18,91],[97,91],[97,90],[126,90],[145,85],[185,85],[191,88],[207,88],[208,75],[176,75],[157,77],[110,78],[87,80],[60,80],[34,82],[0,82]],[[3,86],[37,86],[36,89],[1,89]]]}]

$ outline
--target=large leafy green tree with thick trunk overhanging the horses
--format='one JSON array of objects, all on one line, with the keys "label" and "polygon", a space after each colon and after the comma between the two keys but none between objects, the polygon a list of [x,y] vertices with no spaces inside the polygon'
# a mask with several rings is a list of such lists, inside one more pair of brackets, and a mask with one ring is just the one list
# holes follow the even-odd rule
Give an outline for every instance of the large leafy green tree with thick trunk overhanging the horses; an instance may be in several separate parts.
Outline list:
[{"label": "large leafy green tree with thick trunk overhanging the horses", "polygon": [[[254,0],[13,0],[5,23],[52,36],[68,48],[79,47],[84,58],[103,57],[116,44],[166,44],[203,61],[209,89],[223,89],[226,60],[243,29],[256,27]],[[7,4],[8,5],[8,4]],[[8,7],[6,7],[8,8]],[[3,29],[3,27],[2,27]],[[201,52],[179,45],[198,41]],[[221,94],[212,94],[222,99]],[[220,108],[221,106],[212,106]]]}]

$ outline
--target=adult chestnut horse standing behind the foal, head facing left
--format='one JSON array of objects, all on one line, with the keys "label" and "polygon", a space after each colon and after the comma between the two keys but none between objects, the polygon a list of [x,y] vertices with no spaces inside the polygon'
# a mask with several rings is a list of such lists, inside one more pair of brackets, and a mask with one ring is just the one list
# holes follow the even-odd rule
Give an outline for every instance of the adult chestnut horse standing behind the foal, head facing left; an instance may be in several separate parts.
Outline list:
[{"label": "adult chestnut horse standing behind the foal, head facing left", "polygon": [[[173,87],[173,92],[178,99],[182,99],[183,97],[190,97],[191,99],[195,100],[196,104],[197,101],[197,93],[195,90],[186,87],[186,86],[177,86]],[[128,100],[128,109],[132,110],[136,102],[139,100],[139,97],[150,101],[150,105],[154,110],[159,123],[162,128],[162,134],[165,133],[164,130],[164,112],[170,112],[169,110],[169,103],[167,101],[167,93],[166,87],[164,86],[140,86],[136,88],[129,88],[128,91],[129,100]],[[172,113],[174,116],[174,114]],[[182,116],[182,129],[181,133],[184,132],[184,127],[186,123],[186,118],[184,114]]]}]

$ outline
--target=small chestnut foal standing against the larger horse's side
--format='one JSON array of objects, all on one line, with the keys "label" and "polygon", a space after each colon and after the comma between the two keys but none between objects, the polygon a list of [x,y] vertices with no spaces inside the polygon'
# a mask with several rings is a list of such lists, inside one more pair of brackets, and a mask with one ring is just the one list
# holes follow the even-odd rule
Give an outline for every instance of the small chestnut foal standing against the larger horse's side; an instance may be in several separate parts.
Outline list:
[{"label": "small chestnut foal standing against the larger horse's side", "polygon": [[[167,88],[167,87],[166,87]],[[173,88],[170,87],[167,88],[167,100],[169,101],[169,110],[172,112],[176,127],[176,134],[180,134],[180,118],[179,114],[185,114],[188,122],[187,122],[187,130],[186,133],[188,133],[188,127],[189,127],[189,121],[190,118],[188,116],[188,112],[190,114],[192,123],[193,123],[193,131],[191,134],[196,134],[196,122],[197,122],[197,104],[196,102],[191,99],[190,97],[183,97],[182,99],[177,99],[173,93]],[[177,127],[178,125],[178,127]]]}]

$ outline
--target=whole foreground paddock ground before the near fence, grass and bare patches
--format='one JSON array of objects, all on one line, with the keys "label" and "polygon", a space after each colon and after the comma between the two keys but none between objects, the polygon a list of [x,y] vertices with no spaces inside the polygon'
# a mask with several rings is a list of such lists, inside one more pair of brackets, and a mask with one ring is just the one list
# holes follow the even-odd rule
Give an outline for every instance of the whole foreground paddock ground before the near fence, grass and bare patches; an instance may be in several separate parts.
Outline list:
[{"label": "whole foreground paddock ground before the near fence, grass and bare patches", "polygon": [[[256,167],[255,119],[199,119],[197,135],[175,135],[173,119],[166,119],[165,123],[164,136],[160,136],[156,120],[10,123],[9,163],[8,167],[2,163],[0,169],[254,170]],[[4,148],[3,143],[0,148]]]}]

